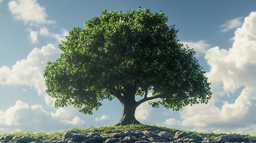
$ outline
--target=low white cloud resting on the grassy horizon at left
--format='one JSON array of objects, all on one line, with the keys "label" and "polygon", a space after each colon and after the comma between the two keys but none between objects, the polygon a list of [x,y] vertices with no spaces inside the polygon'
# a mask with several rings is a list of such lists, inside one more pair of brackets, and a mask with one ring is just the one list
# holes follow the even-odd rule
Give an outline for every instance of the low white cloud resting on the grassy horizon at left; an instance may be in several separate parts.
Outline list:
[{"label": "low white cloud resting on the grassy horizon at left", "polygon": [[[70,107],[61,108],[60,110],[70,111]],[[79,117],[78,111],[73,111],[71,116],[56,116],[55,113],[49,113],[44,110],[42,105],[28,105],[25,102],[17,101],[5,111],[0,111],[0,132],[1,129],[6,131],[23,130],[33,132],[54,132],[57,130],[68,129],[76,126],[84,126],[84,120]],[[69,114],[69,112],[67,112]],[[73,116],[76,114],[76,116]]]}]

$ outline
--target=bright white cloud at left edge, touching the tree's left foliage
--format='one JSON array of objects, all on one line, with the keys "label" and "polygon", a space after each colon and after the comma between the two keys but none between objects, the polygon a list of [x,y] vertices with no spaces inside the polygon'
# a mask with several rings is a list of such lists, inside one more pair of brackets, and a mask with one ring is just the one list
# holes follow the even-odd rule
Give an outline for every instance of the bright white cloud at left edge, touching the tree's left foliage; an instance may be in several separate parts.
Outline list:
[{"label": "bright white cloud at left edge, touching the tree's left foliage", "polygon": [[[39,95],[45,95],[45,80],[42,76],[48,61],[54,61],[60,55],[60,49],[53,44],[33,49],[26,59],[17,61],[13,67],[0,68],[0,85],[26,85],[35,88]],[[45,100],[53,100],[46,95]]]}]

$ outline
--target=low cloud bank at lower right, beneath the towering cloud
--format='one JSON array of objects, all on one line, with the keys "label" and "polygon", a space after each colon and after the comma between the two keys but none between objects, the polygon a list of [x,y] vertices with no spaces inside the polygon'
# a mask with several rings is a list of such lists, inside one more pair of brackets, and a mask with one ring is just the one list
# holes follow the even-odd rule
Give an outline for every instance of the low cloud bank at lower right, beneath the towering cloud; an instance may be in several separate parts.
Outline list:
[{"label": "low cloud bank at lower right, beneath the towering cloud", "polygon": [[[255,90],[254,90],[255,92]],[[206,130],[213,132],[230,132],[232,130],[243,130],[243,133],[255,133],[245,128],[255,126],[255,100],[250,89],[243,89],[235,102],[224,102],[221,108],[214,104],[194,105],[185,107],[181,111],[181,125],[190,126],[196,130]],[[194,130],[194,129],[193,129]]]}]

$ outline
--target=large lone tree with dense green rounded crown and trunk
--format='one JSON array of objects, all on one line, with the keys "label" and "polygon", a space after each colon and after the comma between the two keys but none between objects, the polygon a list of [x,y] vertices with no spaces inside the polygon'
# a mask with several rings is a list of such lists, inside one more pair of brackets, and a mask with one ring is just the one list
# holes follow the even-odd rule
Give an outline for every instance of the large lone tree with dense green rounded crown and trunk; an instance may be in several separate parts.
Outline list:
[{"label": "large lone tree with dense green rounded crown and trunk", "polygon": [[128,125],[140,123],[135,110],[146,101],[172,110],[206,104],[212,93],[205,71],[167,21],[162,11],[153,14],[139,7],[125,13],[103,11],[85,21],[84,29],[73,28],[58,46],[60,58],[49,61],[44,71],[55,107],[73,105],[92,114],[102,100],[117,98],[124,108],[118,125]]}]

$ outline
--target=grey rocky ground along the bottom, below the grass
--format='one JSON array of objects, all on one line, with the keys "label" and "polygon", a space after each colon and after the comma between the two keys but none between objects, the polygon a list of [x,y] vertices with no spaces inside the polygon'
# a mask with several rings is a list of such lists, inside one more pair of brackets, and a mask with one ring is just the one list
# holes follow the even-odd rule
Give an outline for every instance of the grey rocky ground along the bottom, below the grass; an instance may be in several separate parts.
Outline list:
[{"label": "grey rocky ground along the bottom, below the grass", "polygon": [[81,134],[75,131],[67,131],[63,136],[54,139],[44,139],[43,137],[30,138],[23,136],[2,136],[0,142],[44,142],[44,143],[75,143],[75,142],[255,142],[256,139],[245,138],[242,135],[222,135],[217,138],[200,137],[187,132],[162,130],[162,129],[137,129],[137,130],[120,130],[112,133],[90,132]]}]

